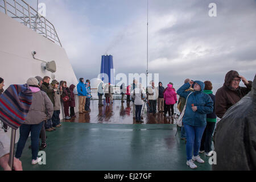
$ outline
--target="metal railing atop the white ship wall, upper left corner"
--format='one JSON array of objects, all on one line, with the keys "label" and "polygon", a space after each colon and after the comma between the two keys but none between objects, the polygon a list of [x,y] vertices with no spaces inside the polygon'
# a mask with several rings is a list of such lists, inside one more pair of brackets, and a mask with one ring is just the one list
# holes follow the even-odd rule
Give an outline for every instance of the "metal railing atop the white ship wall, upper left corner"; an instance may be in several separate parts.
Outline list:
[{"label": "metal railing atop the white ship wall, upper left corner", "polygon": [[35,9],[23,0],[0,0],[1,10],[4,10],[3,13],[18,20],[24,26],[33,29],[38,34],[43,35],[62,47],[53,24],[44,16],[40,16]]}]

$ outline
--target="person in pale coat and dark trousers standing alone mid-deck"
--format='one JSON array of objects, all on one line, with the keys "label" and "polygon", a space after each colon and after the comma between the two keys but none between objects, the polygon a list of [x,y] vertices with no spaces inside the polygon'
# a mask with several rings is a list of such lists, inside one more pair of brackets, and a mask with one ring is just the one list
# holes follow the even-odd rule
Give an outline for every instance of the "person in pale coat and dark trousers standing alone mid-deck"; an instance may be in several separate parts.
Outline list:
[{"label": "person in pale coat and dark trousers standing alone mid-deck", "polygon": [[143,123],[141,119],[141,110],[142,105],[144,104],[144,98],[146,98],[146,93],[142,89],[141,84],[137,85],[137,87],[131,92],[131,97],[135,97],[134,104],[135,104],[135,119],[137,122]]}]

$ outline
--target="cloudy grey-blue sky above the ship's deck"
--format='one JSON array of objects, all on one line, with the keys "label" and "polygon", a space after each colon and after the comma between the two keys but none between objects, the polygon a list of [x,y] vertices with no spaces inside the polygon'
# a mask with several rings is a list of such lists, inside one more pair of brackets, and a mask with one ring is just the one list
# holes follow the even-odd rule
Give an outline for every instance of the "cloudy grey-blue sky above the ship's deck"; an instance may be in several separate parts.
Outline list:
[{"label": "cloudy grey-blue sky above the ship's deck", "polygon": [[[27,1],[36,7],[36,1]],[[113,55],[115,73],[145,73],[146,0],[39,0],[77,78],[100,73]],[[209,3],[217,16],[210,17]],[[148,69],[177,89],[185,78],[210,80],[216,91],[230,70],[256,73],[256,0],[149,0]],[[244,86],[241,82],[241,86]]]}]

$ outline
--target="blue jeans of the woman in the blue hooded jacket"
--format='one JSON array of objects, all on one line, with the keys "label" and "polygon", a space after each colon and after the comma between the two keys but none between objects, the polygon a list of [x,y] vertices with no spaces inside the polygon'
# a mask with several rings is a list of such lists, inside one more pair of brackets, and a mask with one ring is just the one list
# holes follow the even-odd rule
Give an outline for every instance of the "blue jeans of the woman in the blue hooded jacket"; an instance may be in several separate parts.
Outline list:
[{"label": "blue jeans of the woman in the blue hooded jacket", "polygon": [[192,159],[192,151],[194,156],[199,155],[201,138],[206,126],[191,126],[184,123],[184,127],[187,133],[187,160],[190,160]]}]

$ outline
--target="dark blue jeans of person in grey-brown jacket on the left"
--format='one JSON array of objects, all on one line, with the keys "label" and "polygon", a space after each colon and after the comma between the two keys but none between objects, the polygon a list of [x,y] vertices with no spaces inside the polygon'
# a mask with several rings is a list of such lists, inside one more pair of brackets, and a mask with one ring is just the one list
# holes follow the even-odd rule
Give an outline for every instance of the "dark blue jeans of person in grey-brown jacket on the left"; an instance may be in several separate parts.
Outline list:
[{"label": "dark blue jeans of person in grey-brown jacket on the left", "polygon": [[42,129],[44,122],[39,123],[38,125],[21,125],[19,127],[19,142],[16,148],[15,158],[20,159],[22,155],[23,148],[27,142],[28,135],[31,132],[31,151],[32,151],[32,159],[36,160],[38,157],[38,143],[39,143],[39,135]]}]

